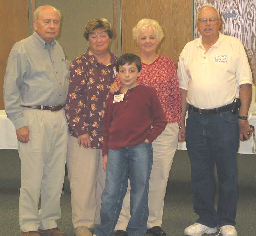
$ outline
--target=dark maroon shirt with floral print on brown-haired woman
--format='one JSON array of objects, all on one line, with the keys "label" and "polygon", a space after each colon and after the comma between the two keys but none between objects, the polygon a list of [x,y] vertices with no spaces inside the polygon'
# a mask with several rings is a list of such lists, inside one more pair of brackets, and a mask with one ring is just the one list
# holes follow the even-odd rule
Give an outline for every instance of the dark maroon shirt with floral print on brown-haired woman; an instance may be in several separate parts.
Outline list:
[{"label": "dark maroon shirt with floral print on brown-haired woman", "polygon": [[106,100],[116,77],[117,58],[111,51],[109,54],[107,66],[98,62],[90,48],[70,63],[65,106],[69,135],[78,137],[89,133],[91,147],[96,149],[102,149]]}]

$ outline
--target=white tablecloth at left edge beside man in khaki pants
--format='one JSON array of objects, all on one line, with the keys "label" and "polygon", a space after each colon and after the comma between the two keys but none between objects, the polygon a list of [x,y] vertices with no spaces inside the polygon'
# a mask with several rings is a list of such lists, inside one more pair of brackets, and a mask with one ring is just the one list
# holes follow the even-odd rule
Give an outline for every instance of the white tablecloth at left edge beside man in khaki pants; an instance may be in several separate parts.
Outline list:
[{"label": "white tablecloth at left edge beside man in khaki pants", "polygon": [[16,130],[5,110],[0,110],[0,149],[18,149]]}]

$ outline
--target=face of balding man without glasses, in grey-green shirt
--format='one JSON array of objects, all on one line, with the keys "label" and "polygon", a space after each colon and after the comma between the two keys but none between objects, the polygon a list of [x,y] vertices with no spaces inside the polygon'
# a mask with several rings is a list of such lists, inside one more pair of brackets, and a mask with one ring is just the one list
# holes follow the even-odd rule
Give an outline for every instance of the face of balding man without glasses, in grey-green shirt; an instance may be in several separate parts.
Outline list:
[{"label": "face of balding man without glasses, in grey-green shirt", "polygon": [[60,31],[60,16],[53,7],[47,6],[38,13],[38,19],[33,20],[33,26],[37,34],[48,44]]}]

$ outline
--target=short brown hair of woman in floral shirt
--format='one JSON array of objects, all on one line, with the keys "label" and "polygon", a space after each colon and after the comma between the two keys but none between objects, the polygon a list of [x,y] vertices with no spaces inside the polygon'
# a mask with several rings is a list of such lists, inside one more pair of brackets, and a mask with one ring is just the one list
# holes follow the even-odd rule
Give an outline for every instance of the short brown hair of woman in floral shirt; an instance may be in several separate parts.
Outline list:
[{"label": "short brown hair of woman in floral shirt", "polygon": [[89,20],[85,25],[84,37],[88,41],[89,35],[93,34],[96,29],[103,29],[111,39],[114,35],[114,28],[105,18],[95,18]]}]

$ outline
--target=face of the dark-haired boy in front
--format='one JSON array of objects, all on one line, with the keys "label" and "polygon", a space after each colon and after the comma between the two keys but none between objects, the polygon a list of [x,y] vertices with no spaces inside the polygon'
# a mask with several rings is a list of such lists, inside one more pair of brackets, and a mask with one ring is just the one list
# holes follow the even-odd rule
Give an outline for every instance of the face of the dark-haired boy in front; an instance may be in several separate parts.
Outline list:
[{"label": "face of the dark-haired boy in front", "polygon": [[126,89],[133,88],[139,84],[137,82],[137,77],[140,75],[140,72],[138,72],[138,68],[134,62],[130,65],[128,65],[128,63],[120,65],[118,74],[124,85],[123,87]]}]

